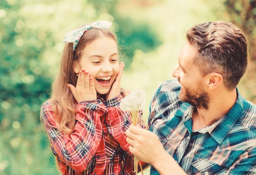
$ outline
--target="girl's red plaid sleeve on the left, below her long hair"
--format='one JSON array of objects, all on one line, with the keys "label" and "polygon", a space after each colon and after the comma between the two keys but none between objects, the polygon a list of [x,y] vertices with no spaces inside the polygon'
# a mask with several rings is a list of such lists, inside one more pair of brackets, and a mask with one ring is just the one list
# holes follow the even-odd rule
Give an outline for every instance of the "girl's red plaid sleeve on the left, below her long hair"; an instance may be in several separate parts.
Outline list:
[{"label": "girl's red plaid sleeve on the left, below her long hair", "polygon": [[49,135],[52,150],[72,169],[82,172],[99,147],[102,137],[100,117],[105,113],[100,100],[80,102],[76,109],[74,132],[66,134],[58,130],[51,105],[41,107],[41,121]]}]

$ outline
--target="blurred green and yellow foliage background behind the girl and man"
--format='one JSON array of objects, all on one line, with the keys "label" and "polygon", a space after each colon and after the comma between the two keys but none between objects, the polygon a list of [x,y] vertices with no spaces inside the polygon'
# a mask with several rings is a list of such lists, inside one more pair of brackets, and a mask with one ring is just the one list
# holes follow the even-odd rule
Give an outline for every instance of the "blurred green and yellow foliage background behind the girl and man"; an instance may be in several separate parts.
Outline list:
[{"label": "blurred green and yellow foliage background behind the girl and man", "polygon": [[186,30],[206,21],[233,22],[247,35],[249,67],[239,90],[256,103],[254,0],[1,0],[1,175],[58,174],[39,111],[58,71],[62,38],[96,20],[113,23],[126,53],[122,87],[147,93],[145,121],[155,88],[172,79]]}]

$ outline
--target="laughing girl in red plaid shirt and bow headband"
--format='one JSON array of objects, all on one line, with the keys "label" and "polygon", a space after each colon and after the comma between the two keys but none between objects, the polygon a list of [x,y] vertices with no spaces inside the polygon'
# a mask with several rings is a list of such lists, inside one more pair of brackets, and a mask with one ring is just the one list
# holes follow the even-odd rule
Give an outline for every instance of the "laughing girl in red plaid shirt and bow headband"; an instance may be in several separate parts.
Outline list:
[{"label": "laughing girl in red plaid shirt and bow headband", "polygon": [[[119,103],[124,62],[119,65],[111,23],[97,21],[64,38],[61,70],[41,121],[63,175],[132,175],[125,131],[131,124]],[[139,123],[144,123],[140,119]]]}]

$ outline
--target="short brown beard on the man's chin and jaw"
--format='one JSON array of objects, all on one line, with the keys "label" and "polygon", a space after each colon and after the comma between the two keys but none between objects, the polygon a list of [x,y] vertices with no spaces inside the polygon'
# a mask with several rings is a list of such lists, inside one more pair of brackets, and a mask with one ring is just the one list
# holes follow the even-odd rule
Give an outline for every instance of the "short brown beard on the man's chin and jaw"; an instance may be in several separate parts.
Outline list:
[{"label": "short brown beard on the man's chin and jaw", "polygon": [[183,87],[183,90],[183,93],[179,93],[180,101],[187,102],[197,108],[204,108],[208,110],[210,98],[207,92],[200,88],[198,88],[197,91],[193,91]]}]

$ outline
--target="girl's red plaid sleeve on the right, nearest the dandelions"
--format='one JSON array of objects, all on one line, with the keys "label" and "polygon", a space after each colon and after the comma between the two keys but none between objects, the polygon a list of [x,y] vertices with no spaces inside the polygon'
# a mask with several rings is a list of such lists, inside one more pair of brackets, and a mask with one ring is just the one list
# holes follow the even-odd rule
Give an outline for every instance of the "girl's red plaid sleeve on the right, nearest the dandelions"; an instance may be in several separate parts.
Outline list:
[{"label": "girl's red plaid sleeve on the right, nearest the dandelions", "polygon": [[[125,135],[125,131],[129,129],[131,124],[131,116],[128,112],[120,109],[119,104],[122,99],[122,96],[119,94],[116,98],[104,102],[107,110],[106,122],[108,124],[108,132],[115,138],[125,152],[132,155],[128,148],[130,144],[127,143],[127,136]],[[140,117],[141,114],[142,111],[140,111]],[[141,118],[141,120],[143,119]],[[140,127],[145,128],[142,125]]]}]

